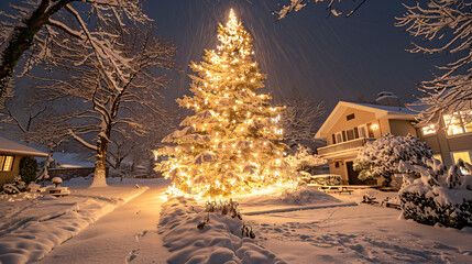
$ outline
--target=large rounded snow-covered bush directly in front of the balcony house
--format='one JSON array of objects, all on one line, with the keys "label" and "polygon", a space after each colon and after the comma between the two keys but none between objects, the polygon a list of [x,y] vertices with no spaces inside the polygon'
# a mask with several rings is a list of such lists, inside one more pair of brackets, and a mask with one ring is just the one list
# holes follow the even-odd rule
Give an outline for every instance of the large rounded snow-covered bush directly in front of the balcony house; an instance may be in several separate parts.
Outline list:
[{"label": "large rounded snow-covered bush directly in front of the balcony house", "polygon": [[[432,152],[426,142],[408,134],[395,136],[385,134],[381,139],[367,142],[354,161],[353,167],[359,172],[359,179],[366,180],[384,177],[388,186],[392,175],[399,173],[398,164],[404,161],[410,165],[426,166],[425,161],[432,158]],[[403,173],[415,173],[405,170]]]}]

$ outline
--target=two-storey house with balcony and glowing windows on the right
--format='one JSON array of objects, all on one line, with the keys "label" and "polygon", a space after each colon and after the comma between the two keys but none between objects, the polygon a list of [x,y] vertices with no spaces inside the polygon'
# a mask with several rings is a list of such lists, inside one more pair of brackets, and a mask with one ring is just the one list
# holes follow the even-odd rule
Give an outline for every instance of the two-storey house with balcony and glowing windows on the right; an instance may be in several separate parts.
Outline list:
[{"label": "two-storey house with balcony and glowing windows on the right", "polygon": [[446,114],[439,125],[419,125],[416,112],[399,107],[392,92],[377,96],[378,105],[338,102],[315,135],[327,141],[327,146],[318,148],[318,155],[328,160],[331,174],[341,175],[341,184],[365,184],[353,170],[353,162],[366,142],[386,133],[418,136],[428,143],[435,158],[447,166],[459,158],[471,162],[472,122],[465,119],[466,113]]}]

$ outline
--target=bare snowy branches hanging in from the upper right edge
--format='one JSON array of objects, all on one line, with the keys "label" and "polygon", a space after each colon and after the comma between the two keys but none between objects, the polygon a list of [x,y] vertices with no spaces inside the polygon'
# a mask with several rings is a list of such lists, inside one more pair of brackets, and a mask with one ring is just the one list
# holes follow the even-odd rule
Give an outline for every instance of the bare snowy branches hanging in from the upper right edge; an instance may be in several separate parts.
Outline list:
[{"label": "bare snowy branches hanging in from the upper right edge", "polygon": [[397,26],[420,38],[411,53],[450,55],[450,63],[437,66],[432,80],[419,82],[422,122],[438,122],[444,113],[472,109],[472,3],[463,0],[429,0],[406,6]]}]

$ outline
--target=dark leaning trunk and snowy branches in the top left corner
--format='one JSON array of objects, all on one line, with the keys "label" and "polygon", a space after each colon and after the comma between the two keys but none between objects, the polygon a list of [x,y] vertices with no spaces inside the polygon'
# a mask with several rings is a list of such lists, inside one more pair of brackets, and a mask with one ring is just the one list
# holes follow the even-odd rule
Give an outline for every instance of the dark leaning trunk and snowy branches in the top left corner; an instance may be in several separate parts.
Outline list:
[{"label": "dark leaning trunk and snowy branches in the top left corner", "polygon": [[[0,107],[20,58],[28,53],[25,70],[47,58],[51,40],[59,33],[67,34],[72,42],[87,42],[97,56],[113,57],[111,40],[101,29],[111,23],[124,29],[127,23],[149,21],[140,0],[26,0],[10,7],[17,13],[0,12],[4,16],[0,23]],[[73,29],[73,24],[79,28]]]}]

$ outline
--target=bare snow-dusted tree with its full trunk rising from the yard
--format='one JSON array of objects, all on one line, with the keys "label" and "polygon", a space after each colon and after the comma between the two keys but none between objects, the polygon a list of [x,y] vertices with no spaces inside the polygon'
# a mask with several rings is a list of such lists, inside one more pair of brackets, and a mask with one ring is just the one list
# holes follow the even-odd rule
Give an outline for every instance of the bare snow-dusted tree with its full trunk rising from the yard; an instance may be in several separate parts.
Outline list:
[{"label": "bare snow-dusted tree with its full trunk rising from the yard", "polygon": [[[121,133],[123,128],[131,127],[135,134],[143,134],[146,123],[133,113],[162,114],[155,103],[161,99],[161,88],[168,82],[162,69],[174,66],[175,54],[175,46],[155,37],[150,29],[136,26],[131,33],[118,24],[103,29],[100,34],[110,38],[111,46],[107,48],[116,56],[102,59],[94,43],[68,42],[68,36],[63,34],[53,42],[54,64],[67,78],[36,77],[45,82],[39,87],[45,100],[81,102],[79,109],[56,120],[69,122],[70,135],[96,151],[91,187],[107,185],[107,151],[112,131]],[[95,143],[87,141],[87,136],[95,138]]]}]

